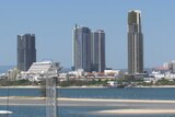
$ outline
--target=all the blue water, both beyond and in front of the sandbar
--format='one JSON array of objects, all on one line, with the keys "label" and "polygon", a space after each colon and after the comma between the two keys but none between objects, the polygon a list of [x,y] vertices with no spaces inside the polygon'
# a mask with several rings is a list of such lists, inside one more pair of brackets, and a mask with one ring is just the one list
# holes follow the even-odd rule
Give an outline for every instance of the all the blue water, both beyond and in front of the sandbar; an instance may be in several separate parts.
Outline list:
[{"label": "all the blue water, both beyond and in front of the sandbar", "polygon": [[[7,95],[0,89],[0,96]],[[137,100],[174,100],[175,87],[133,87],[133,89],[58,89],[61,97],[90,98],[137,98]],[[11,96],[40,96],[39,89],[10,89]],[[0,106],[0,109],[7,109]],[[10,106],[14,114],[9,117],[45,117],[45,106]],[[96,115],[97,110],[119,109],[117,107],[65,107],[58,108],[59,117],[175,117],[175,115]],[[121,107],[120,107],[121,109]]]}]

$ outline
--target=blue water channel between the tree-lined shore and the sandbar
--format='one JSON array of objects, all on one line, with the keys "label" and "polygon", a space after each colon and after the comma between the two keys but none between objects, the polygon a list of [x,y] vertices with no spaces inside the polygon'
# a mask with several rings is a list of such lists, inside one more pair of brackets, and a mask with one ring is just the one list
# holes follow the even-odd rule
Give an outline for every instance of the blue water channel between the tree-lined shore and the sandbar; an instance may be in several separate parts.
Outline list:
[{"label": "blue water channel between the tree-lined shore and the sandbar", "polygon": [[[0,89],[0,96],[8,90]],[[81,98],[128,98],[128,100],[175,100],[175,87],[131,87],[131,89],[58,89],[61,97]],[[42,96],[39,89],[9,89],[10,96]]]}]

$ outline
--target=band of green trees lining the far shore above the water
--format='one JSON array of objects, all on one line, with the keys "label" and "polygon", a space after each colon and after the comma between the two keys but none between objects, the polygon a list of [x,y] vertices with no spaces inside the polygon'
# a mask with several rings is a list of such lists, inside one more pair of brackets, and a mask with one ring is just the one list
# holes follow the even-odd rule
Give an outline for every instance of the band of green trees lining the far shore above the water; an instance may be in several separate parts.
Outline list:
[{"label": "band of green trees lining the far shore above the water", "polygon": [[[58,81],[57,85],[59,86],[107,86],[107,82],[109,80],[105,79],[92,79],[92,80],[75,80],[75,79],[69,79],[67,81]],[[117,79],[118,84],[122,84],[124,82],[133,83],[136,82],[138,85],[175,85],[175,81],[170,81],[167,79],[161,79],[156,82],[150,82],[145,83],[142,79],[136,80],[136,79],[129,79],[129,78],[122,78]],[[7,79],[0,79],[0,86],[15,86],[15,85],[45,85],[45,80],[39,82],[31,82],[28,80],[19,80],[19,81],[8,81]]]}]

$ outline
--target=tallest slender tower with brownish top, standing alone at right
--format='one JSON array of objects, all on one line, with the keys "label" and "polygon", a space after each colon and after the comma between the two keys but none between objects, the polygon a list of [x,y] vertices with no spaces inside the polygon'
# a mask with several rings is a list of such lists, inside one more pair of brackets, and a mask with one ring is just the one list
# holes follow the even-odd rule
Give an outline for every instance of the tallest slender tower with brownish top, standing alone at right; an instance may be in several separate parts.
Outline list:
[{"label": "tallest slender tower with brownish top, standing alone at right", "polygon": [[143,73],[143,35],[141,12],[128,12],[128,73]]}]

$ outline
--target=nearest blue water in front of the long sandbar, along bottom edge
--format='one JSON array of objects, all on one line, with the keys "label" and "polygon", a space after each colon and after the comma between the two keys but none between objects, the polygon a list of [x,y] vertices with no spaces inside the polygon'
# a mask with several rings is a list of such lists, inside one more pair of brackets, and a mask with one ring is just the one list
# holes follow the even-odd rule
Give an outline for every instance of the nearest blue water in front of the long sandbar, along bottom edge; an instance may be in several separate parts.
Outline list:
[{"label": "nearest blue water in front of the long sandbar, along bottom edge", "polygon": [[[0,109],[4,107],[0,106]],[[175,115],[98,115],[97,110],[117,109],[116,107],[59,107],[58,117],[175,117]],[[5,109],[5,108],[4,108]],[[12,115],[7,117],[46,117],[44,106],[11,106]],[[1,117],[1,116],[0,116]],[[4,116],[3,116],[4,117]]]}]

